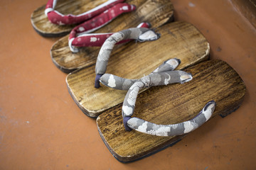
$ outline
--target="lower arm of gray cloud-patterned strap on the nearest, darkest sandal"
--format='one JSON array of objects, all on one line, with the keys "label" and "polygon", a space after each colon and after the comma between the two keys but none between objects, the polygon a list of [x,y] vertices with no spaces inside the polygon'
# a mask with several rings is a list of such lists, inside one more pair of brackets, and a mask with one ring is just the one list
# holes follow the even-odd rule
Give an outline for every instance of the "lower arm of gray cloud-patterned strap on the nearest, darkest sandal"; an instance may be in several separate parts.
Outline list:
[{"label": "lower arm of gray cloud-patterned strap on the nearest, darkest sandal", "polygon": [[[186,122],[177,123],[173,125],[156,125],[154,123],[147,122],[146,120],[142,120],[139,118],[124,118],[126,124],[126,128],[130,128],[133,130],[137,130],[139,132],[143,132],[149,135],[156,136],[175,136],[175,135],[183,135],[206,123],[207,120],[213,114],[215,110],[215,101],[209,101],[206,106],[202,109],[198,115]],[[128,129],[128,130],[130,130]]]}]

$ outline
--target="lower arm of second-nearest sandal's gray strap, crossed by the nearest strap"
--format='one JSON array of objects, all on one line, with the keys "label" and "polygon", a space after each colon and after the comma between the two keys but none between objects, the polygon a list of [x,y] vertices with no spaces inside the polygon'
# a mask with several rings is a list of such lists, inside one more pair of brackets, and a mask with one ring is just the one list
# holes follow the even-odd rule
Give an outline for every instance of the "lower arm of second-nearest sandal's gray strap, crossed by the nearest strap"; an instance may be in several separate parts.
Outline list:
[{"label": "lower arm of second-nearest sandal's gray strap, crossed by the nearest strap", "polygon": [[[166,60],[163,64],[161,64],[159,67],[157,67],[154,72],[167,72],[172,71],[178,67],[178,64],[181,63],[181,60],[178,60],[176,58]],[[108,86],[112,89],[118,89],[118,90],[129,90],[129,88],[139,79],[124,79],[122,77],[117,77],[113,74],[103,74],[102,77],[100,77],[100,82],[104,84],[105,86]]]}]

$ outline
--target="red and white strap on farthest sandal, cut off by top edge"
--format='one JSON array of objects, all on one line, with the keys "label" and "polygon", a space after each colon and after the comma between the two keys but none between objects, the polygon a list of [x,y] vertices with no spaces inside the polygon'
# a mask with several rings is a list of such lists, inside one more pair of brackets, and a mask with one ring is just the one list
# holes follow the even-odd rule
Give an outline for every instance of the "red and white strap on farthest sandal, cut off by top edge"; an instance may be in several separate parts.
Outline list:
[{"label": "red and white strap on farthest sandal, cut off by top edge", "polygon": [[97,6],[85,13],[81,13],[78,16],[75,16],[72,14],[63,15],[62,13],[55,11],[54,8],[57,4],[57,1],[58,0],[48,0],[48,3],[46,4],[46,10],[45,10],[46,16],[48,16],[48,19],[51,23],[55,23],[58,25],[68,25],[68,24],[82,23],[83,21],[87,21],[88,19],[95,17],[100,13],[103,13],[108,8],[111,8],[112,6],[115,6],[116,4],[119,4],[124,0],[106,1],[100,6]]}]

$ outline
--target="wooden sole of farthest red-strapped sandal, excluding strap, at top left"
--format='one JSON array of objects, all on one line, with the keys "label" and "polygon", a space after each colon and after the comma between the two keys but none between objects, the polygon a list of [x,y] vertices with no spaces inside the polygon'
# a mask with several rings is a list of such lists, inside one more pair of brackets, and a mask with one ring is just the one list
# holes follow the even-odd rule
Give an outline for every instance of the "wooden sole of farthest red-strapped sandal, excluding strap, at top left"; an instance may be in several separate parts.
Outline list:
[{"label": "wooden sole of farthest red-strapped sandal, excluding strap, at top left", "polygon": [[[60,13],[63,13],[64,15],[70,13],[73,15],[78,15],[80,13],[85,13],[86,11],[89,11],[92,8],[95,8],[100,4],[103,4],[105,1],[107,0],[59,0],[57,2],[55,10]],[[68,26],[58,26],[54,23],[50,23],[46,14],[44,13],[45,8],[46,5],[43,5],[37,8],[31,14],[32,26],[40,35],[43,35],[45,37],[63,36],[68,34],[70,30],[72,30],[75,26],[78,25],[73,24]]]}]

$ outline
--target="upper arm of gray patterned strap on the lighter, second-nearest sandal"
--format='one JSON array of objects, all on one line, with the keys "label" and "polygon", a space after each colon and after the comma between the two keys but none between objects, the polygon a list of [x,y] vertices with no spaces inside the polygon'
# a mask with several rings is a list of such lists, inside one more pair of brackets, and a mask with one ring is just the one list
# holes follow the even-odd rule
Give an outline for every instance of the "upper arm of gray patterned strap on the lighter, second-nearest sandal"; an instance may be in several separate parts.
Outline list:
[{"label": "upper arm of gray patterned strap on the lighter, second-nearest sandal", "polygon": [[159,34],[155,33],[154,30],[150,30],[149,28],[129,28],[127,30],[122,30],[119,33],[114,33],[107,38],[107,40],[102,45],[99,55],[97,57],[95,72],[95,87],[100,87],[100,77],[102,74],[105,74],[107,70],[107,62],[110,58],[110,53],[117,42],[121,40],[129,40],[134,39],[139,42],[144,42],[148,40],[157,40],[159,39]]}]

